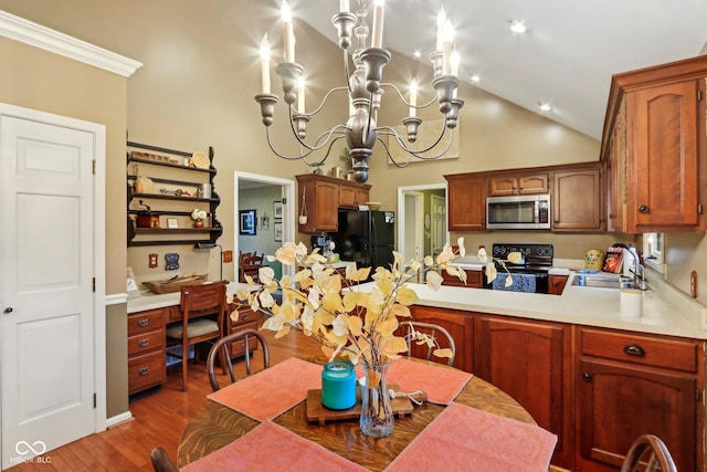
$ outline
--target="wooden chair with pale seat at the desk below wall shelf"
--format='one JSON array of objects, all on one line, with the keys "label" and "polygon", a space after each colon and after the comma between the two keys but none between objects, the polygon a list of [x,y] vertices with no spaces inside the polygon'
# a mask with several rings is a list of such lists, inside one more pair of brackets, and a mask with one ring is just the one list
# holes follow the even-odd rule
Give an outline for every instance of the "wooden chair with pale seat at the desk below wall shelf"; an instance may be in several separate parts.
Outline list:
[{"label": "wooden chair with pale seat at the desk below wall shelf", "polygon": [[[167,346],[181,346],[181,386],[187,391],[189,347],[221,337],[225,316],[225,282],[181,287],[181,322],[167,326]],[[194,348],[194,358],[197,349]]]}]

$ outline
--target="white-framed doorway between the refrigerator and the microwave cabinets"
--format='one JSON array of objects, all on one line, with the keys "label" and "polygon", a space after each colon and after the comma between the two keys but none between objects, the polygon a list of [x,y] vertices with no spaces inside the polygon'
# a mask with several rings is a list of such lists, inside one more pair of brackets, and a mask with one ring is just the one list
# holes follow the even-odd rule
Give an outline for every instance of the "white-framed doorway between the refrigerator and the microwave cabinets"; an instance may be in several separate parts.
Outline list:
[{"label": "white-framed doorway between the refrigerator and the microwave cabinets", "polygon": [[446,183],[398,188],[398,252],[405,261],[436,255],[450,238]]}]

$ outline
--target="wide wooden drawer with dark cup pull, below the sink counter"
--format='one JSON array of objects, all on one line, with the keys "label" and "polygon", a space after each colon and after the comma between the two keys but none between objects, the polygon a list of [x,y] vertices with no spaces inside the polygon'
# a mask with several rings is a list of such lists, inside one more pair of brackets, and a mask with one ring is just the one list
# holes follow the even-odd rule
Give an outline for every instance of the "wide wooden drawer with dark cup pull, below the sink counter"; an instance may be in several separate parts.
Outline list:
[{"label": "wide wooden drawer with dark cup pull, below the sink counter", "polygon": [[694,340],[581,329],[582,355],[668,369],[697,371],[698,346]]}]

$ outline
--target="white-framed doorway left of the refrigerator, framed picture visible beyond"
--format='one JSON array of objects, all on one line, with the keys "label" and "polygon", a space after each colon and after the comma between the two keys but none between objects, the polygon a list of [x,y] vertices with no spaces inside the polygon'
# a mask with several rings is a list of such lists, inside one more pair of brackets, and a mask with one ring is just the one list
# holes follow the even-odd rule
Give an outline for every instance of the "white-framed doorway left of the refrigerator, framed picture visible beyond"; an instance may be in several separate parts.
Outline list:
[{"label": "white-framed doorway left of the refrigerator, framed picture visible beyond", "polygon": [[[247,208],[246,208],[247,207]],[[241,234],[240,212],[255,210],[253,231]],[[258,211],[260,210],[260,211]],[[250,213],[249,213],[250,214]],[[233,172],[233,273],[239,281],[239,254],[256,251],[274,255],[295,238],[295,181],[257,174]],[[276,277],[294,275],[294,268],[271,264]]]}]

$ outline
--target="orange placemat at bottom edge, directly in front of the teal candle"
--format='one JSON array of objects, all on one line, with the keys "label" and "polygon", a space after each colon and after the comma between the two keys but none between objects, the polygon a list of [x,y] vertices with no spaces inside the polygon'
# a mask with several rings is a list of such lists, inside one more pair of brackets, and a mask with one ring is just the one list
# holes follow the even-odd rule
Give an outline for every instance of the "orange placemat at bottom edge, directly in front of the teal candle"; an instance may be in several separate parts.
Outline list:
[{"label": "orange placemat at bottom edge, directly in front of the teal candle", "polygon": [[198,471],[365,471],[360,465],[335,454],[273,422],[264,422],[198,461],[181,469]]}]

